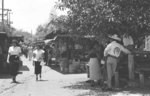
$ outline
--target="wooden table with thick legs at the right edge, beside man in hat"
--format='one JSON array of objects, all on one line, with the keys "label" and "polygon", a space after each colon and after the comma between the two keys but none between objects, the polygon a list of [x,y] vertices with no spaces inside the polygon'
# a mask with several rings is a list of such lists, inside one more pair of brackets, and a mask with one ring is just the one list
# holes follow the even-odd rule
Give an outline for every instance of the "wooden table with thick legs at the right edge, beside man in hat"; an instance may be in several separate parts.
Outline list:
[{"label": "wooden table with thick legs at the right edge, beside man in hat", "polygon": [[135,80],[135,74],[139,75],[140,85],[144,85],[144,78],[150,76],[150,52],[135,50],[128,55],[129,80]]}]

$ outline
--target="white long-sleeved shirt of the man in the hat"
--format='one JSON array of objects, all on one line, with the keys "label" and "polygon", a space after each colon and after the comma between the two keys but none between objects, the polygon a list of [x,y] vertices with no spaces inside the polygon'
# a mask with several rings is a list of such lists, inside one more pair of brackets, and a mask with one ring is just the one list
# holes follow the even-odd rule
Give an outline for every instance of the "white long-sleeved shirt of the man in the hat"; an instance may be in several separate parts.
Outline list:
[{"label": "white long-sleeved shirt of the man in the hat", "polygon": [[110,44],[108,44],[107,47],[105,48],[104,56],[111,55],[119,57],[121,51],[123,51],[126,54],[130,53],[130,51],[124,48],[121,44],[117,43],[116,41],[113,41]]}]

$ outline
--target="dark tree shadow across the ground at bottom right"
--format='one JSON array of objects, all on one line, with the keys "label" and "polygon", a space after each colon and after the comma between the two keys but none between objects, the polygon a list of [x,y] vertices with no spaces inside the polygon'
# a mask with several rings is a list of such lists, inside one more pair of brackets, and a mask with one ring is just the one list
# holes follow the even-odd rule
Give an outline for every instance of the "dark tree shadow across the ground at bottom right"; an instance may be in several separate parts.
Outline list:
[{"label": "dark tree shadow across the ground at bottom right", "polygon": [[[138,94],[138,96],[149,96],[150,94],[150,86],[144,88],[124,88],[120,89],[119,91],[102,91],[100,86],[90,86],[90,83],[87,82],[78,82],[74,85],[65,86],[64,88],[71,89],[71,90],[87,90],[77,96],[122,96],[118,95],[119,93],[124,94],[125,96],[129,94]],[[140,95],[139,95],[140,94]]]}]

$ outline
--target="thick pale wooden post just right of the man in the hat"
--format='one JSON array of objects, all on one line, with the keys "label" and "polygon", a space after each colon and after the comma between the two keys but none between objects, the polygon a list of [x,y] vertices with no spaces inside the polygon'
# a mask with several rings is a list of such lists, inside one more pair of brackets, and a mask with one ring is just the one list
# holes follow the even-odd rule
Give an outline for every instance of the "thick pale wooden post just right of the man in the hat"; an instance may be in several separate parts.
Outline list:
[{"label": "thick pale wooden post just right of the man in the hat", "polygon": [[129,71],[129,80],[134,80],[134,56],[133,54],[128,55],[128,71]]}]

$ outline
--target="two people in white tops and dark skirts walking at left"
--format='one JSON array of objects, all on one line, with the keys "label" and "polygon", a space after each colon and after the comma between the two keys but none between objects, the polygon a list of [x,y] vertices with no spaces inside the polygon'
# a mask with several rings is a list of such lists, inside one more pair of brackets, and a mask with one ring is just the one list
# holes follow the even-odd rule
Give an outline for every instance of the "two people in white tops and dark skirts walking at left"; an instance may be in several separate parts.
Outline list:
[{"label": "two people in white tops and dark skirts walking at left", "polygon": [[[41,63],[44,62],[45,51],[42,49],[41,45],[37,45],[34,50],[30,48],[29,52],[31,52],[29,53],[30,54],[29,60],[33,58],[33,65],[35,68],[34,73],[36,75],[36,80],[39,80],[39,78],[41,79],[41,71],[42,71]],[[12,40],[12,44],[9,47],[8,57],[7,57],[7,62],[9,63],[10,75],[12,76],[12,83],[18,83],[16,81],[16,76],[19,73],[19,67],[21,66],[22,63],[20,58],[21,55],[22,55],[22,50],[18,44],[18,41]]]}]

